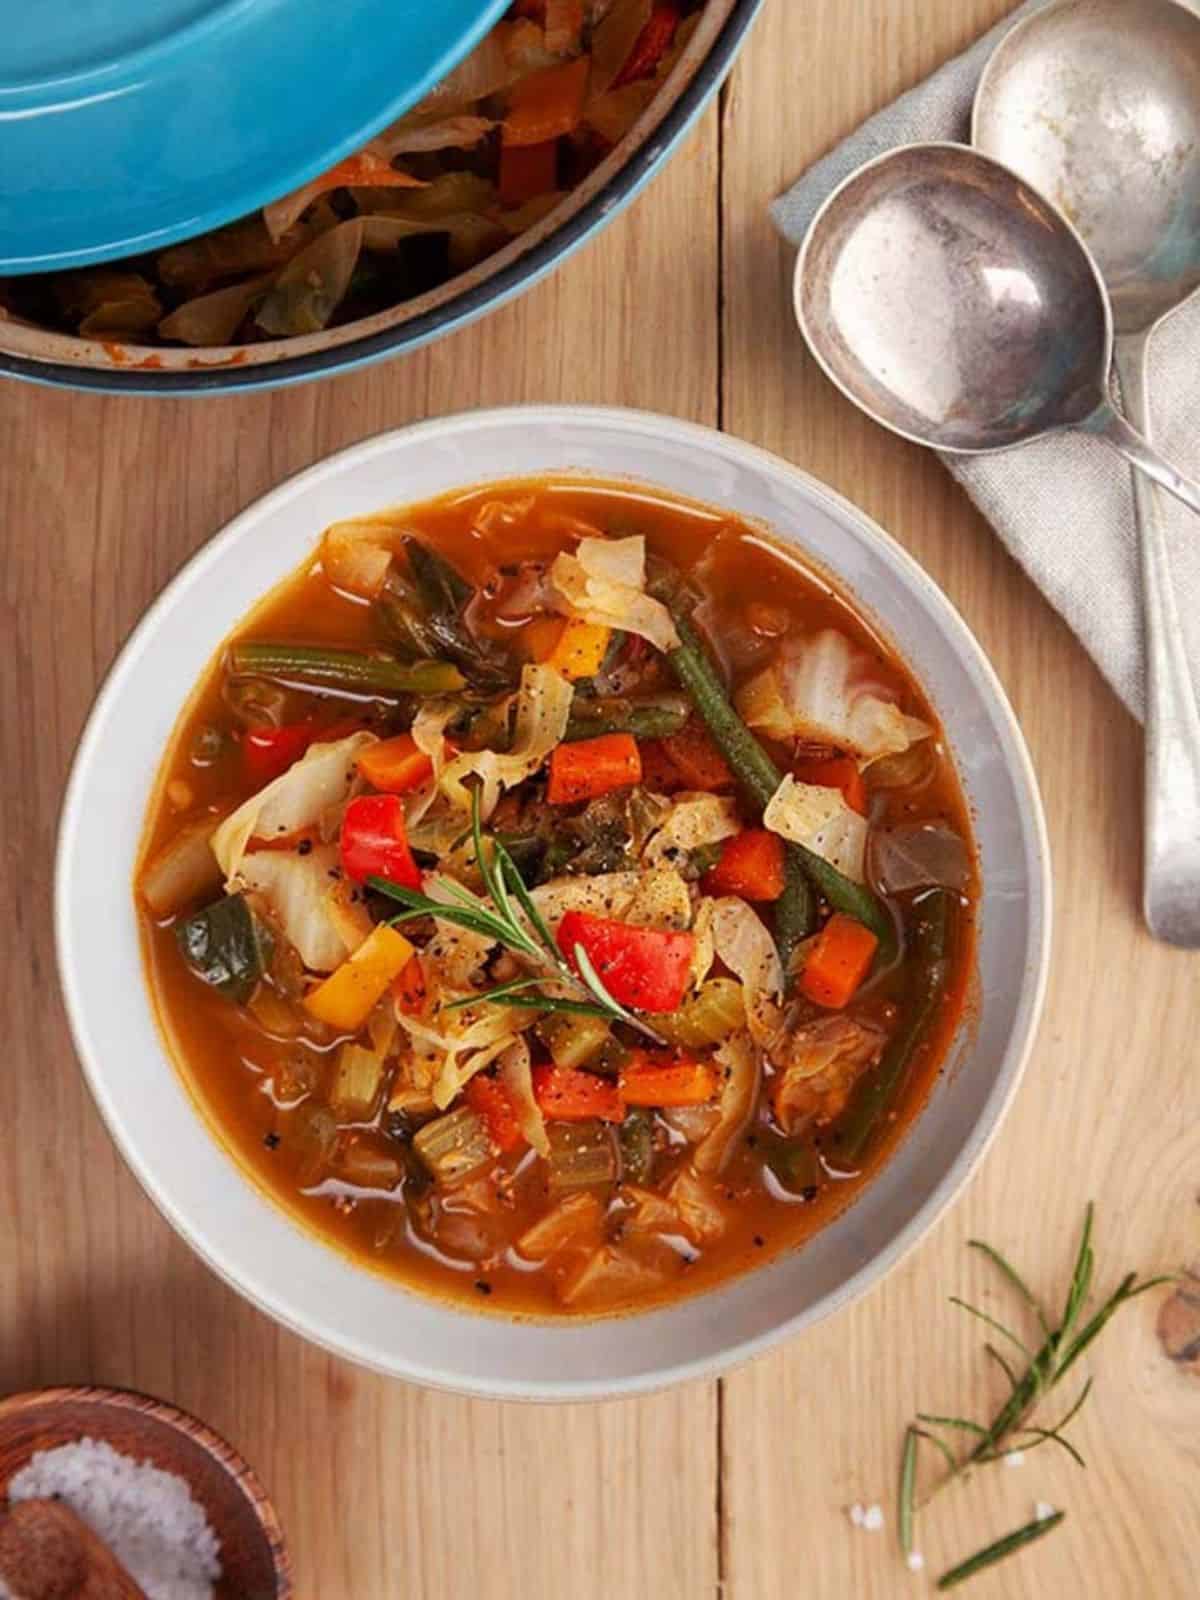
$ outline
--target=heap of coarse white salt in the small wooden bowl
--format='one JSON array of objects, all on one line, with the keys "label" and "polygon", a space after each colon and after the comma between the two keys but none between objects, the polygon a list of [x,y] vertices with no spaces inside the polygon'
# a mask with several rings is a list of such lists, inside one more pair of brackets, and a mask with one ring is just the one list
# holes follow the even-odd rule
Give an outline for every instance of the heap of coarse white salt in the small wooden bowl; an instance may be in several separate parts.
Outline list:
[{"label": "heap of coarse white salt in the small wooden bowl", "polygon": [[141,1584],[147,1600],[213,1600],[219,1546],[174,1472],[94,1438],[38,1450],[8,1485],[11,1501],[66,1501]]}]

